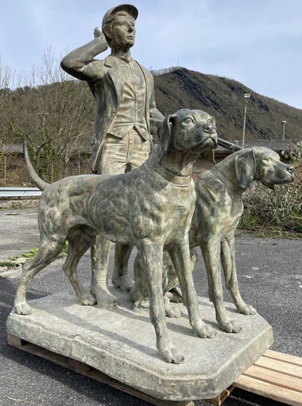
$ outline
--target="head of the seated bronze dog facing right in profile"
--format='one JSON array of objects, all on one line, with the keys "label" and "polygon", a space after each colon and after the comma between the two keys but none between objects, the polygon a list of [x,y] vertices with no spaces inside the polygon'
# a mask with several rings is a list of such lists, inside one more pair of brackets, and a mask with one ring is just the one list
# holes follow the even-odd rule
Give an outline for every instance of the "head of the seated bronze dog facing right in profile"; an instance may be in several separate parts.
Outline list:
[{"label": "head of the seated bronze dog facing right in profile", "polygon": [[281,162],[280,156],[269,148],[246,148],[236,155],[235,173],[242,189],[247,189],[252,181],[274,189],[275,185],[294,180],[294,167]]}]

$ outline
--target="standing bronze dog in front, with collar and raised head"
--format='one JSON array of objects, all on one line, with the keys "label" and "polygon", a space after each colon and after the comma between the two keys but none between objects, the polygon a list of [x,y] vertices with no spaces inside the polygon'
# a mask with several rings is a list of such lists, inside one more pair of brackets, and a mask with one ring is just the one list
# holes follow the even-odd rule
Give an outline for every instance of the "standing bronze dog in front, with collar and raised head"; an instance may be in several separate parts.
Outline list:
[{"label": "standing bronze dog in front, with collar and raised head", "polygon": [[78,281],[76,266],[92,237],[100,234],[111,241],[137,246],[147,274],[156,344],[164,360],[184,360],[170,340],[165,321],[161,283],[164,247],[177,272],[193,330],[200,337],[213,337],[214,330],[200,318],[189,266],[188,230],[195,204],[193,163],[201,151],[216,146],[214,119],[200,110],[183,109],[164,120],[156,155],[132,172],[70,176],[46,186],[30,170],[34,183],[45,188],[39,204],[41,246],[36,258],[24,267],[15,311],[30,313],[26,302],[29,282],[57,258],[67,240],[64,272],[83,304],[93,304],[94,298],[85,294]]}]

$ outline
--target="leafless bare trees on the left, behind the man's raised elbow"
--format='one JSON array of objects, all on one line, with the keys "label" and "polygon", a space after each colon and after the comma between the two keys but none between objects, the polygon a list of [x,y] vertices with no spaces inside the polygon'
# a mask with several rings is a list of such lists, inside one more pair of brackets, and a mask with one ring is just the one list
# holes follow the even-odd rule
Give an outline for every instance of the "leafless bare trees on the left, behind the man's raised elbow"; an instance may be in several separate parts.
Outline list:
[{"label": "leafless bare trees on the left, behind the man's raised elbow", "polygon": [[69,161],[88,151],[95,103],[85,83],[69,80],[48,49],[30,73],[0,63],[3,141],[29,141],[34,165],[46,181],[67,173]]}]

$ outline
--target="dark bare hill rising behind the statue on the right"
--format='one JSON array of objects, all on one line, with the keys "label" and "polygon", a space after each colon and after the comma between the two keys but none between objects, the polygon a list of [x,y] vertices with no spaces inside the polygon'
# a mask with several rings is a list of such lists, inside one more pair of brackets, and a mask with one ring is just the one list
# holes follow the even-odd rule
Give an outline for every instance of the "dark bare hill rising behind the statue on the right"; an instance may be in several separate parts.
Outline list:
[{"label": "dark bare hill rising behind the statue on the right", "polygon": [[156,75],[156,104],[165,115],[179,109],[200,109],[215,117],[219,137],[242,139],[245,99],[245,139],[281,139],[282,120],[287,121],[285,137],[302,139],[302,110],[262,96],[235,80],[177,68]]}]

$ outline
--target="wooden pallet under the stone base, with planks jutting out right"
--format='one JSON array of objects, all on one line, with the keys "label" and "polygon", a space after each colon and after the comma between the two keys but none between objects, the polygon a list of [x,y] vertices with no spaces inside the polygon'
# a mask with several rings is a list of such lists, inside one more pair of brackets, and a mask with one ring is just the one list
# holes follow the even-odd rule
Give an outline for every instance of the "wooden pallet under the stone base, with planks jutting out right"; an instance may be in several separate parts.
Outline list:
[{"label": "wooden pallet under the stone base, with planks jutting out right", "polygon": [[[172,401],[153,398],[78,360],[31,344],[9,333],[8,344],[79,372],[86,377],[100,381],[120,391],[130,393],[130,395],[145,400],[152,405],[194,406],[193,401]],[[207,399],[207,402],[220,406],[234,388],[244,389],[245,391],[256,393],[266,398],[287,403],[287,405],[302,406],[302,358],[268,350],[254,365],[247,368],[233,385],[217,396],[217,398]]]}]

